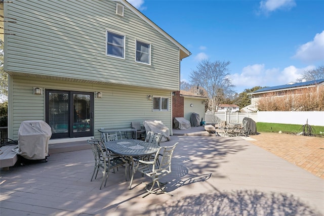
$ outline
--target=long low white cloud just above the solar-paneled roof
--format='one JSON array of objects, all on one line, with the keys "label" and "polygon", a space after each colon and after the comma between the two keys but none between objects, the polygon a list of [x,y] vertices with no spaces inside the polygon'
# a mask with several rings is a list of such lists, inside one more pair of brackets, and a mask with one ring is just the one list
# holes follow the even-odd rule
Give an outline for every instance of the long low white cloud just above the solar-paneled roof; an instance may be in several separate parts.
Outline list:
[{"label": "long low white cloud just above the solar-paneled roof", "polygon": [[232,74],[232,84],[236,85],[237,92],[245,89],[252,89],[256,86],[272,87],[295,82],[301,78],[305,70],[314,69],[315,66],[309,65],[304,68],[296,68],[291,65],[283,70],[279,68],[266,69],[264,64],[248,65],[242,69],[241,73]]}]

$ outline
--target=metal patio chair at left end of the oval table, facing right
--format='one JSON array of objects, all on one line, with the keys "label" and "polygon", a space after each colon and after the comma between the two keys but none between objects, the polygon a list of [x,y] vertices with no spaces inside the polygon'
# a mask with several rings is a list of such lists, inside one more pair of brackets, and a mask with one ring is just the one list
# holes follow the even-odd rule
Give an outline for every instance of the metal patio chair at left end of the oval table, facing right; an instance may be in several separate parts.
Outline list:
[{"label": "metal patio chair at left end of the oval table, facing right", "polygon": [[[99,144],[96,140],[88,140],[88,143],[91,145],[91,150],[94,155],[95,159],[95,165],[94,165],[94,170],[93,174],[91,177],[91,182],[93,180],[93,177],[97,179],[98,172],[101,171],[103,176],[102,176],[102,181],[100,185],[100,190],[102,188],[102,184],[105,181],[105,187],[107,183],[107,179],[109,177],[109,172],[111,169],[114,170],[114,168],[117,168],[118,166],[125,165],[125,179],[127,181],[127,167],[128,163],[120,156],[116,155],[113,153],[109,153],[106,149],[106,151],[103,150],[102,145]],[[96,176],[95,176],[96,174]]]}]

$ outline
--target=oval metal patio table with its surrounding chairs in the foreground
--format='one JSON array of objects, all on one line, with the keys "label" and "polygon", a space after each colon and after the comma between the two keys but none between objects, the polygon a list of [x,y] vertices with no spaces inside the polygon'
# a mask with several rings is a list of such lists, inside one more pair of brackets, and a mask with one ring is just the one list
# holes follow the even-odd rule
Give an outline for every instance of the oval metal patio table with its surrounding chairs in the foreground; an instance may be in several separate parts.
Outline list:
[{"label": "oval metal patio table with its surrounding chairs in the foreground", "polygon": [[140,172],[142,176],[145,175],[151,179],[150,184],[146,184],[148,193],[143,197],[151,193],[166,193],[172,196],[165,191],[166,183],[161,183],[159,180],[170,174],[173,151],[178,143],[161,147],[161,134],[151,131],[145,133],[144,140],[137,139],[137,132],[130,138],[123,137],[125,129],[120,129],[120,131],[119,129],[100,129],[99,132],[101,132],[101,139],[92,138],[88,140],[88,143],[91,145],[95,159],[91,181],[97,178],[98,172],[101,172],[100,189],[103,185],[106,186],[110,172],[115,172],[118,167],[124,166],[125,180],[127,181],[127,177],[130,178],[129,189],[132,189],[135,173]]}]

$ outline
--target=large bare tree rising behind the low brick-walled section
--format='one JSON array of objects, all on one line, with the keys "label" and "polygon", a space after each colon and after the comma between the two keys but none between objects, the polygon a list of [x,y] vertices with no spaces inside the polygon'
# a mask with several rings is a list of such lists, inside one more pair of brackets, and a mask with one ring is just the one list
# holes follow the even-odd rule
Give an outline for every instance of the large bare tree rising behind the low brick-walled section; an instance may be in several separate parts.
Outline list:
[{"label": "large bare tree rising behind the low brick-walled section", "polygon": [[235,85],[231,83],[228,65],[229,61],[211,62],[203,60],[198,63],[197,69],[192,70],[190,82],[204,88],[209,97],[209,109],[214,112],[216,107],[223,101],[225,96],[233,95]]}]

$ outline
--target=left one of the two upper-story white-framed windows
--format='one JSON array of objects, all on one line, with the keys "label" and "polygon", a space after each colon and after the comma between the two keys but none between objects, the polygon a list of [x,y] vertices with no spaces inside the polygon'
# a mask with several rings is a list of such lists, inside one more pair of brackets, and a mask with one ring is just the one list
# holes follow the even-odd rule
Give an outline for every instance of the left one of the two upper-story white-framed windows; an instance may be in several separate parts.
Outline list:
[{"label": "left one of the two upper-story white-framed windows", "polygon": [[107,31],[106,54],[108,56],[125,58],[125,35]]}]

